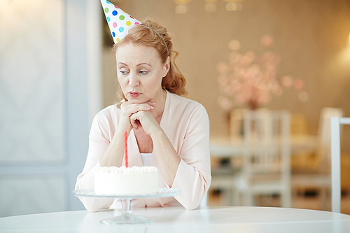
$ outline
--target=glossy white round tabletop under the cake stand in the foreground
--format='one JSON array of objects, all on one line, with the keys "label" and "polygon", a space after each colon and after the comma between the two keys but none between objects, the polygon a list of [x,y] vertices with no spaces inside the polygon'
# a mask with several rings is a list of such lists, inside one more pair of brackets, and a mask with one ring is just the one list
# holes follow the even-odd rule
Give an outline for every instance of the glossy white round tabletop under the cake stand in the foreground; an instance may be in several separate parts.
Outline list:
[{"label": "glossy white round tabletop under the cake stand in the foreground", "polygon": [[99,223],[121,211],[69,211],[0,218],[0,232],[350,232],[350,216],[326,211],[269,207],[181,207],[133,209],[154,218],[145,225]]}]

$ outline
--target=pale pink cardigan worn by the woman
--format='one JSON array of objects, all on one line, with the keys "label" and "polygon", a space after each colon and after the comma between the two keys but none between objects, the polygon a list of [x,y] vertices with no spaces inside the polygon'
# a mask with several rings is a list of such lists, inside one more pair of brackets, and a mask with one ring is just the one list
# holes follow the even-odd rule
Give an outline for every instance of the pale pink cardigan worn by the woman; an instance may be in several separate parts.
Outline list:
[{"label": "pale pink cardigan worn by the woman", "polygon": [[[82,173],[78,175],[76,190],[94,188],[94,171],[100,167],[99,160],[116,132],[119,115],[120,109],[116,105],[112,105],[104,108],[94,117],[89,136],[87,159]],[[133,199],[132,206],[184,206],[186,209],[196,209],[211,183],[207,111],[196,101],[167,92],[160,127],[167,134],[169,141],[172,142],[174,149],[181,157],[172,185],[172,188],[180,190],[180,195],[165,198]],[[133,130],[130,132],[127,143],[129,166],[144,166]],[[151,156],[149,166],[158,167],[158,171],[160,171],[155,153]],[[168,187],[161,173],[159,181],[160,188]],[[114,201],[113,199],[92,197],[80,197],[80,200],[90,212],[109,208]],[[112,207],[118,206],[120,203],[113,204]]]}]

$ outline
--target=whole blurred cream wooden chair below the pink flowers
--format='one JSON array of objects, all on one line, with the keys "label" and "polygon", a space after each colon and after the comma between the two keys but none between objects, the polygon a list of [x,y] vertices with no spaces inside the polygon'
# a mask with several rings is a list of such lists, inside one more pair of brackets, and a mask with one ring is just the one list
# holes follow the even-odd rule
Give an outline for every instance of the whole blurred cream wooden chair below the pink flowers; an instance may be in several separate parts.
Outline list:
[{"label": "whole blurred cream wooden chair below the pink flowers", "polygon": [[245,206],[257,195],[281,196],[290,207],[290,114],[287,111],[246,111],[244,143],[249,148],[235,191]]}]

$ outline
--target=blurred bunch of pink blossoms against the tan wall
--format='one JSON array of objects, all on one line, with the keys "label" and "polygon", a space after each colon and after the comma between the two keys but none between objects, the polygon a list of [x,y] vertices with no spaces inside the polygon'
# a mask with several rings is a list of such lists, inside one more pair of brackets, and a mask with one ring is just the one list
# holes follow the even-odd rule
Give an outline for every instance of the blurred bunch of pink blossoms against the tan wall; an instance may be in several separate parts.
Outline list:
[{"label": "blurred bunch of pink blossoms against the tan wall", "polygon": [[[268,35],[262,36],[260,42],[265,48],[270,48],[274,44],[272,36]],[[304,82],[300,79],[294,80],[291,76],[276,78],[279,64],[281,57],[270,50],[262,55],[256,55],[253,51],[245,54],[236,50],[231,52],[228,62],[217,64],[220,73],[218,83],[222,92],[218,97],[219,105],[225,111],[230,111],[234,106],[233,103],[238,106],[248,104],[249,108],[255,109],[269,103],[273,96],[281,96],[283,87],[302,90]]]}]

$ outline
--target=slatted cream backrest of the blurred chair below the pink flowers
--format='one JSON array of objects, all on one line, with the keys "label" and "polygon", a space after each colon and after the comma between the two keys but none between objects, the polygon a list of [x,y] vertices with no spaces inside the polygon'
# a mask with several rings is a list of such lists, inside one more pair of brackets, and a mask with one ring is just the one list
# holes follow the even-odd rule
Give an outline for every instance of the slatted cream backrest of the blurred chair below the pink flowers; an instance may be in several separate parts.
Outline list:
[{"label": "slatted cream backrest of the blurred chair below the pink flowers", "polygon": [[287,111],[247,111],[244,143],[249,173],[290,174],[290,114]]}]

